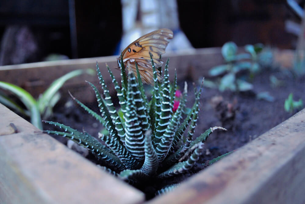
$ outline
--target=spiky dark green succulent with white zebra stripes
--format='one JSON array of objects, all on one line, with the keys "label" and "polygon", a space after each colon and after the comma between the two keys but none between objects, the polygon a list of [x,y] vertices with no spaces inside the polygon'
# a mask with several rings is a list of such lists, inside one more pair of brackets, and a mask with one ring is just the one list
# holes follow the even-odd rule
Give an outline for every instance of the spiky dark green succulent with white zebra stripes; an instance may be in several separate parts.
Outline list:
[{"label": "spiky dark green succulent with white zebra stripes", "polygon": [[[123,58],[121,57],[121,59]],[[64,131],[46,130],[45,132],[62,135],[91,150],[104,170],[131,184],[143,183],[151,178],[173,177],[188,172],[203,154],[203,141],[213,131],[225,129],[222,127],[210,128],[193,141],[202,84],[200,89],[196,91],[191,111],[186,114],[184,111],[187,98],[186,83],[182,97],[175,97],[177,75],[175,74],[174,83],[170,84],[169,59],[165,65],[162,82],[157,80],[157,71],[152,58],[151,63],[154,89],[150,101],[145,95],[137,65],[137,77],[135,77],[131,70],[127,70],[128,74],[125,73],[125,67],[121,60],[122,88],[106,65],[117,91],[123,117],[119,116],[113,105],[98,63],[96,63],[97,73],[104,97],[93,84],[90,82],[88,84],[95,92],[100,114],[95,113],[71,95],[82,108],[102,123],[109,135],[99,134],[99,139],[96,139],[87,132],[80,132],[51,121],[44,122],[59,126]],[[179,102],[179,106],[173,111],[174,100]],[[183,133],[188,125],[190,127],[187,136],[183,138]],[[174,186],[168,186],[158,192],[165,192],[172,188]]]}]

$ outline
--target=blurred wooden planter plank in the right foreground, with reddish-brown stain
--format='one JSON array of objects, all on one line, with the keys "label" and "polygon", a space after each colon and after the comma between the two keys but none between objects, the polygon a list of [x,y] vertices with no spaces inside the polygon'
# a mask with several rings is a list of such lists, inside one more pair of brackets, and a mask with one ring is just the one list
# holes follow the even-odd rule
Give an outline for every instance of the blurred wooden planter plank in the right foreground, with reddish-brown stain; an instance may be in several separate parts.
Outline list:
[{"label": "blurred wooden planter plank in the right foreground, with reddish-brown stain", "polygon": [[305,109],[149,203],[305,203],[304,136]]}]

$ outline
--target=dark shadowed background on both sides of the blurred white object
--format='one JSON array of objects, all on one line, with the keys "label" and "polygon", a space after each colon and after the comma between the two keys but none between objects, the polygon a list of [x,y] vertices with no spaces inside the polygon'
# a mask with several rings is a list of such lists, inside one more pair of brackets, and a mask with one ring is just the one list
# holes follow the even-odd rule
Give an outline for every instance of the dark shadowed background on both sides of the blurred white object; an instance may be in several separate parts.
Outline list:
[{"label": "dark shadowed background on both sides of the blurred white object", "polygon": [[[177,5],[181,30],[194,48],[227,41],[296,47],[297,35],[285,23],[301,20],[285,0],[177,0]],[[120,1],[2,0],[0,19],[1,65],[113,55],[122,36]]]}]

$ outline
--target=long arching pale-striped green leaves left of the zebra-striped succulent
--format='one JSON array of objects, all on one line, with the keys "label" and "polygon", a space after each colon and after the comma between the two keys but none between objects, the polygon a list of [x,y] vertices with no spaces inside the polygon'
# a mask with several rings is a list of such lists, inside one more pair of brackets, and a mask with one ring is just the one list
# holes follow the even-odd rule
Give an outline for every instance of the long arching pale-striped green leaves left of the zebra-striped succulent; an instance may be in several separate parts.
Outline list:
[{"label": "long arching pale-striped green leaves left of the zebra-striped succulent", "polygon": [[39,96],[38,100],[36,100],[32,95],[30,95],[29,92],[27,92],[23,88],[14,84],[10,84],[8,82],[0,81],[0,88],[13,92],[20,99],[20,101],[23,102],[26,107],[26,110],[24,110],[16,102],[11,100],[4,93],[0,94],[0,102],[3,105],[15,110],[16,112],[23,114],[24,116],[29,116],[31,123],[39,129],[42,129],[41,117],[47,118],[52,114],[52,109],[60,98],[58,90],[63,86],[63,84],[67,80],[76,77],[80,74],[92,74],[92,72],[93,70],[91,69],[74,70],[63,75],[62,77],[53,81],[52,84],[48,87],[48,89],[45,90],[45,92]]}]

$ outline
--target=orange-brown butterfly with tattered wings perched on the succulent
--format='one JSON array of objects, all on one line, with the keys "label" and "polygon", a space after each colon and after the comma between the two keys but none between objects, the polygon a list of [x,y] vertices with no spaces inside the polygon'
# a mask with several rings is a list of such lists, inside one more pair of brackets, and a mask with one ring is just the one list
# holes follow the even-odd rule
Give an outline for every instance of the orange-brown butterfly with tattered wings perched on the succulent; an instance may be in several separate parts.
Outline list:
[{"label": "orange-brown butterfly with tattered wings perched on the succulent", "polygon": [[[152,54],[152,59],[156,67],[160,67],[163,61],[160,55],[165,53],[165,48],[169,43],[169,39],[173,38],[173,31],[163,28],[152,31],[133,41],[122,52],[124,66],[127,70],[132,70],[137,77],[135,63],[138,64],[138,69],[143,83],[153,84],[152,64],[149,52]],[[120,67],[121,57],[118,59],[118,67]],[[157,73],[160,80],[160,73]]]}]

